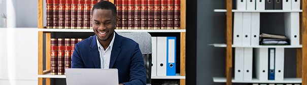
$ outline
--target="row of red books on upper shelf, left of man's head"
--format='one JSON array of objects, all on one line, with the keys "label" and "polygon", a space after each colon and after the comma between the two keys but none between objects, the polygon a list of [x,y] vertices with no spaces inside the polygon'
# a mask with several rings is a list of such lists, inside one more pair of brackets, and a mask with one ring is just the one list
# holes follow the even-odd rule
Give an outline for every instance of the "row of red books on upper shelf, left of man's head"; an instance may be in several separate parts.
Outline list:
[{"label": "row of red books on upper shelf, left of man's head", "polygon": [[97,2],[100,0],[46,0],[46,27],[90,29],[91,9]]}]

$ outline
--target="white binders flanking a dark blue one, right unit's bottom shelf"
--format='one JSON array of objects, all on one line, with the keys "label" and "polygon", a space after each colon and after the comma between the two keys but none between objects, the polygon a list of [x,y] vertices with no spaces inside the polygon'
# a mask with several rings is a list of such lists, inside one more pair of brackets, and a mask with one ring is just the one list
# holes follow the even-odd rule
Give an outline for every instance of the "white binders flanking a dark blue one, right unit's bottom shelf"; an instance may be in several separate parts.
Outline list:
[{"label": "white binders flanking a dark blue one, right unit's bottom shelf", "polygon": [[255,49],[256,78],[284,80],[284,48]]}]

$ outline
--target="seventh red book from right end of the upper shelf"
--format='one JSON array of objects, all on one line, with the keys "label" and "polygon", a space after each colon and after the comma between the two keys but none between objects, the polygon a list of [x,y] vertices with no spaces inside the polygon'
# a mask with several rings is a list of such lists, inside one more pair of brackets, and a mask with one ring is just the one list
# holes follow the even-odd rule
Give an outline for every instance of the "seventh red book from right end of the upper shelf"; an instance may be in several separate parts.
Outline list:
[{"label": "seventh red book from right end of the upper shelf", "polygon": [[141,29],[142,27],[142,0],[134,0],[134,29]]}]

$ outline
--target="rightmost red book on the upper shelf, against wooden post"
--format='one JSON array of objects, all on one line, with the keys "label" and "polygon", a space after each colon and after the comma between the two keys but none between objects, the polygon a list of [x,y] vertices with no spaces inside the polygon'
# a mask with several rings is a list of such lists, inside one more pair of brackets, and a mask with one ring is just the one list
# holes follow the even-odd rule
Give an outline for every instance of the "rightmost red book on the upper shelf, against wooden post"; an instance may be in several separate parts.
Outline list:
[{"label": "rightmost red book on the upper shelf, against wooden post", "polygon": [[180,0],[174,1],[174,29],[180,29]]}]

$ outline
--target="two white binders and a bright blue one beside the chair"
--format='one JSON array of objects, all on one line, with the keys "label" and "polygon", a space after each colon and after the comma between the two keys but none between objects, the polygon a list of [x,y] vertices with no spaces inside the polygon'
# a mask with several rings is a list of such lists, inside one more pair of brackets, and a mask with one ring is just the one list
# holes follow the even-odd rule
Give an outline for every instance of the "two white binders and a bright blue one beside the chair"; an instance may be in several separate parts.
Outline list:
[{"label": "two white binders and a bright blue one beside the chair", "polygon": [[152,38],[151,76],[176,75],[176,37]]}]

